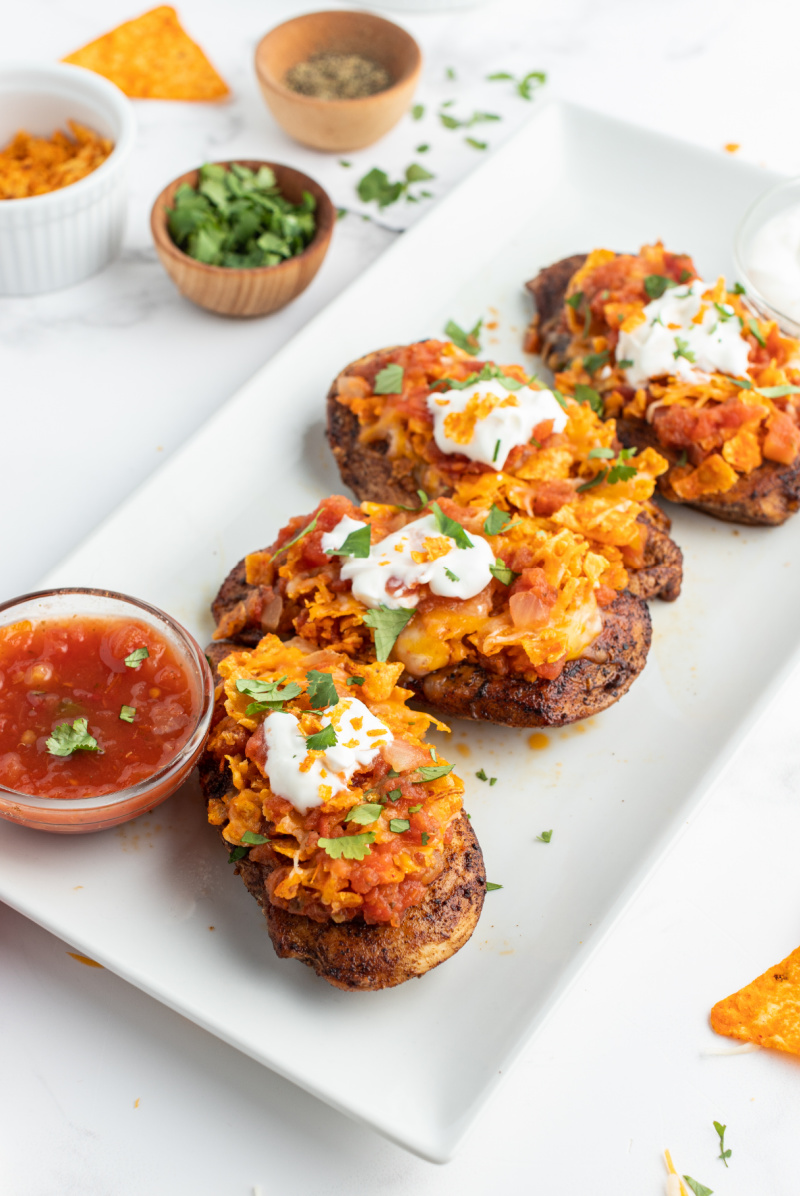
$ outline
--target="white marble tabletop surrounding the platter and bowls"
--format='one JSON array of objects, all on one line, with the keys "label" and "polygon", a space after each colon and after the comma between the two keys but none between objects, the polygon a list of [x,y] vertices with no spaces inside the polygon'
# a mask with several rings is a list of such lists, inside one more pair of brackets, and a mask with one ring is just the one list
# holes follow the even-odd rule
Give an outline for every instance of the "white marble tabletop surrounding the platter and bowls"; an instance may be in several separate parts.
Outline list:
[{"label": "white marble tabletop surrounding the platter and bowls", "polygon": [[[151,249],[152,197],[203,158],[309,160],[270,123],[250,69],[258,36],[303,8],[184,0],[234,100],[138,104],[122,258],[72,291],[0,300],[0,598],[31,587],[393,238],[346,218],[310,291],[255,322],[190,307]],[[57,57],[132,14],[124,0],[28,0],[4,13],[2,55]],[[446,66],[466,105],[470,80],[524,65],[549,72],[551,94],[800,170],[789,0],[496,0],[399,19],[423,44],[432,94]],[[474,106],[486,103],[481,93]],[[440,187],[477,160],[450,151]],[[390,165],[380,146],[372,164]],[[436,171],[433,151],[426,164]],[[319,173],[346,203],[343,169],[320,161]],[[525,201],[506,179],[488,199],[500,216]],[[350,1124],[0,908],[0,1191],[645,1196],[664,1191],[668,1146],[722,1196],[793,1196],[800,1063],[704,1052],[725,1045],[708,1030],[710,1005],[800,942],[799,701],[795,676],[446,1167]],[[728,1124],[728,1170],[714,1118]]]}]

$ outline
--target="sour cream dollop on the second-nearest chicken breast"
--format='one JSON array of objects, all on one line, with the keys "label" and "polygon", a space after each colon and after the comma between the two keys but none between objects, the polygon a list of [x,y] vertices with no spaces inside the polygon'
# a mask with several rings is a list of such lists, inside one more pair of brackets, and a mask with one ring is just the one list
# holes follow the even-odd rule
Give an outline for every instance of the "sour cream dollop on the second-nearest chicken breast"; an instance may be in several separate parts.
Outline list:
[{"label": "sour cream dollop on the second-nearest chicken breast", "polygon": [[[341,548],[350,532],[366,526],[344,515],[322,537],[323,551]],[[420,602],[415,591],[422,585],[442,598],[474,598],[491,581],[495,560],[486,539],[469,538],[471,548],[458,548],[439,531],[435,515],[423,515],[372,544],[370,556],[342,557],[342,576],[365,606],[410,610]]]}]

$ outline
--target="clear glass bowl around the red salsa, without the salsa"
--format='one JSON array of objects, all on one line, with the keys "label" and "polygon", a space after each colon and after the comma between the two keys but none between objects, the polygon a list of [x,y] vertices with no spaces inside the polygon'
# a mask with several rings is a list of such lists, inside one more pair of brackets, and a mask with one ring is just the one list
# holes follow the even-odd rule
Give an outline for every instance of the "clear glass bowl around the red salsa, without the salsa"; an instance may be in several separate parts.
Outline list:
[{"label": "clear glass bowl around the red salsa, without the salsa", "polygon": [[214,681],[206,654],[189,633],[163,610],[138,598],[108,590],[42,590],[0,603],[0,626],[22,620],[65,618],[69,615],[135,618],[147,623],[170,645],[194,689],[197,716],[175,759],[152,776],[99,798],[39,798],[0,785],[0,818],[59,835],[117,826],[153,810],[185,781],[206,743],[214,709]]}]

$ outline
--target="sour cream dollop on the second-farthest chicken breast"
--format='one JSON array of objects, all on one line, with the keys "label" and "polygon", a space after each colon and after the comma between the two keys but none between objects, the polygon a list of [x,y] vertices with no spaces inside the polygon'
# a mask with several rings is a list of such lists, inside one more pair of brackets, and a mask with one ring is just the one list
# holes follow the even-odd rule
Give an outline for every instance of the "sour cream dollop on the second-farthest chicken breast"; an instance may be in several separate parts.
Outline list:
[{"label": "sour cream dollop on the second-farthest chicken breast", "polygon": [[497,378],[475,382],[464,390],[433,391],[427,397],[433,438],[441,452],[460,452],[470,460],[502,469],[518,445],[526,445],[533,428],[552,420],[563,432],[567,413],[550,390],[506,390]]}]

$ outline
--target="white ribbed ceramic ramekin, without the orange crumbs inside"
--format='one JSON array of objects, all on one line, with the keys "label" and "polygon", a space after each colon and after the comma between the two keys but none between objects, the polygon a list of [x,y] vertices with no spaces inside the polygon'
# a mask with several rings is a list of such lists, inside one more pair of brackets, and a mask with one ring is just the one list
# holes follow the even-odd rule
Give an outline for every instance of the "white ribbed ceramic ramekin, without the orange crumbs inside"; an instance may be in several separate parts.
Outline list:
[{"label": "white ribbed ceramic ramekin, without the orange crumbs inside", "polygon": [[59,291],[88,277],[120,250],[128,197],[133,105],[108,79],[66,62],[0,65],[0,147],[18,129],[51,136],[67,121],[114,141],[102,166],[45,195],[0,200],[0,294]]}]

